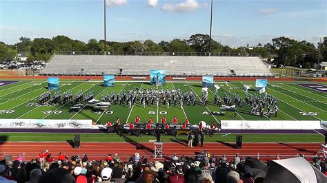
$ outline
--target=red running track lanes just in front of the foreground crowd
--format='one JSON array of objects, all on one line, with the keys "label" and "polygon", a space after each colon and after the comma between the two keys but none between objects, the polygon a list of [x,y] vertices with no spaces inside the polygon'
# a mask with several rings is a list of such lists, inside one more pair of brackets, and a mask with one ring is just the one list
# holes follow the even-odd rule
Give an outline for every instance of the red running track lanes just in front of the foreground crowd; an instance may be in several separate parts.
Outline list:
[{"label": "red running track lanes just in front of the foreground crowd", "polygon": [[[136,152],[140,155],[146,155],[152,159],[154,156],[154,144],[150,142],[82,142],[81,148],[73,149],[67,142],[0,142],[0,159],[4,155],[12,155],[14,160],[17,155],[25,153],[26,160],[38,158],[40,151],[49,150],[54,158],[57,158],[59,152],[63,152],[70,157],[71,155],[88,154],[90,160],[103,160],[105,155],[111,153],[119,154],[122,160]],[[166,142],[164,143],[164,158],[170,159],[173,153],[177,155],[195,156],[203,150],[207,150],[211,154],[221,156],[226,154],[232,157],[239,153],[241,156],[257,157],[260,160],[273,160],[275,155],[279,153],[281,157],[292,157],[293,155],[304,154],[306,156],[316,155],[320,149],[319,143],[243,143],[241,149],[235,149],[234,144],[228,143],[206,143],[204,147],[188,148],[184,142]]]}]

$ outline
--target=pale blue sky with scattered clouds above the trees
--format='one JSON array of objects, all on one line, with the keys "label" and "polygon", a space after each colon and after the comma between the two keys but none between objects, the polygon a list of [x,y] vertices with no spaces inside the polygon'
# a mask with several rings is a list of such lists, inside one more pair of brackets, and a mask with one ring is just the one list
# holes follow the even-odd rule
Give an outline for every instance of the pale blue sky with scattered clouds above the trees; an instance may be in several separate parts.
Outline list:
[{"label": "pale blue sky with scattered clouds above the trees", "polygon": [[[107,40],[170,41],[210,32],[210,0],[106,0]],[[278,36],[318,43],[326,0],[213,0],[212,38],[257,45]],[[0,0],[0,41],[66,35],[103,39],[103,0]]]}]

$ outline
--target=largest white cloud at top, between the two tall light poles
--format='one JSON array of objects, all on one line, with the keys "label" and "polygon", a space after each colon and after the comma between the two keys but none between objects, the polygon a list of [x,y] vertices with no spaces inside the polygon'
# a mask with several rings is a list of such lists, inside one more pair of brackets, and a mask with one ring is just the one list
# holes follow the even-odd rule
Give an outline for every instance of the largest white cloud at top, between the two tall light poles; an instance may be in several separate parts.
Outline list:
[{"label": "largest white cloud at top, between the two tall light poles", "polygon": [[196,0],[185,0],[177,4],[165,3],[162,9],[169,12],[189,12],[197,10],[199,7],[199,3]]}]

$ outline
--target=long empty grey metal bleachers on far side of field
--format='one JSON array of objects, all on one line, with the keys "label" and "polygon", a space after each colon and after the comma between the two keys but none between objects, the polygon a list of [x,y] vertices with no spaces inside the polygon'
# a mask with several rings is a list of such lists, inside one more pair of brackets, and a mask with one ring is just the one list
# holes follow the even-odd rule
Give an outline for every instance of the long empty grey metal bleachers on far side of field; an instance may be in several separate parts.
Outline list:
[{"label": "long empty grey metal bleachers on far side of field", "polygon": [[[122,69],[122,72],[119,71]],[[166,76],[272,76],[259,56],[52,56],[43,75],[148,76],[164,69]]]}]

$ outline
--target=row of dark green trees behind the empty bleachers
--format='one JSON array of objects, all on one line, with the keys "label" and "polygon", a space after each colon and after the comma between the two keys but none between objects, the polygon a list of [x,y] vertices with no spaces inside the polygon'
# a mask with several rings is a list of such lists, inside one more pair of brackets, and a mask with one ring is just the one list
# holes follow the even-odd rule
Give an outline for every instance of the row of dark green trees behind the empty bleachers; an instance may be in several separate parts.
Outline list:
[{"label": "row of dark green trees behind the empty bleachers", "polygon": [[[146,41],[106,42],[106,52],[209,52],[210,37],[207,34],[193,34],[189,39],[173,39],[155,43]],[[297,41],[281,36],[272,39],[271,43],[258,43],[253,47],[229,47],[218,41],[211,41],[212,53],[259,53],[263,58],[270,54],[277,57],[273,63],[277,65],[291,65],[311,67],[317,63],[320,50],[320,61],[327,61],[327,37],[315,47],[314,43]],[[320,49],[319,49],[320,47]],[[27,52],[28,61],[47,61],[54,52],[88,52],[90,54],[103,53],[104,41],[90,39],[88,43],[70,39],[68,36],[55,36],[52,39],[28,37],[19,38],[14,45],[0,42],[0,61],[13,60],[18,52]]]}]

